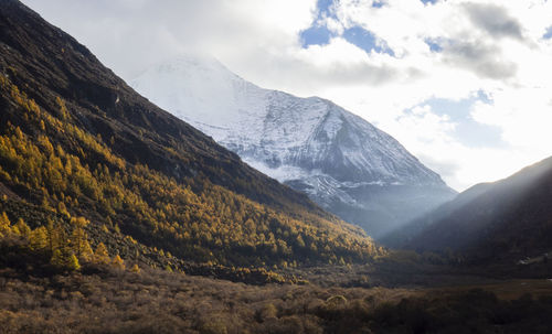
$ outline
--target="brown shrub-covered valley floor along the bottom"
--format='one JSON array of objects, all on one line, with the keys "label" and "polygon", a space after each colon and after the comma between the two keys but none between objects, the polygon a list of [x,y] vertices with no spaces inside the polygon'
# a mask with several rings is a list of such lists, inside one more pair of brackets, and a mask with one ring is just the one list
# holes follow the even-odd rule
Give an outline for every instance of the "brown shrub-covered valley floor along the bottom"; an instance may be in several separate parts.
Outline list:
[{"label": "brown shrub-covered valley floor along the bottom", "polygon": [[[374,287],[370,280],[383,277],[363,277],[358,273],[362,270],[369,271],[317,268],[304,272],[310,283],[259,287],[152,269],[130,272],[96,266],[39,276],[3,268],[0,332],[550,333],[552,328],[552,282],[546,279],[453,274],[442,284],[416,285],[408,282],[416,276],[401,269],[402,283]],[[391,270],[384,276],[392,277]],[[346,279],[347,272],[352,280]]]}]

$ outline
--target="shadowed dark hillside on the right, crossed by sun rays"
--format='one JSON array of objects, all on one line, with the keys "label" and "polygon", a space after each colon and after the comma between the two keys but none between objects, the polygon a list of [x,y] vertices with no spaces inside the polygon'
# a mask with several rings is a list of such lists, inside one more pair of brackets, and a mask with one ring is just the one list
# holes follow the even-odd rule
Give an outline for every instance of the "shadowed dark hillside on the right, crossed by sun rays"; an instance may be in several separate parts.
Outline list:
[{"label": "shadowed dark hillside on the right, crossed by sun rays", "polygon": [[421,251],[457,251],[476,263],[542,257],[552,250],[552,158],[478,184],[389,239]]}]

